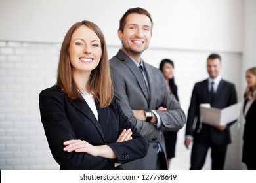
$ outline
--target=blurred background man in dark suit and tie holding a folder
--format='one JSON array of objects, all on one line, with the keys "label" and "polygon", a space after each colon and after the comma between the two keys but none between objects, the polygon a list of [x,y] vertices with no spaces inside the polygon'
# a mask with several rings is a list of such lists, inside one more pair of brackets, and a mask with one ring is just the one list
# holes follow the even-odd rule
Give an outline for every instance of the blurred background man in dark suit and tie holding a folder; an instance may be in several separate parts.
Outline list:
[{"label": "blurred background man in dark suit and tie holding a folder", "polygon": [[230,125],[234,122],[217,126],[200,122],[201,103],[210,103],[211,107],[215,108],[225,108],[237,102],[234,84],[221,78],[221,57],[218,54],[211,54],[207,58],[207,71],[209,78],[195,84],[188,109],[185,146],[188,148],[193,141],[190,169],[202,169],[209,148],[211,169],[223,169],[226,149],[231,143]]}]

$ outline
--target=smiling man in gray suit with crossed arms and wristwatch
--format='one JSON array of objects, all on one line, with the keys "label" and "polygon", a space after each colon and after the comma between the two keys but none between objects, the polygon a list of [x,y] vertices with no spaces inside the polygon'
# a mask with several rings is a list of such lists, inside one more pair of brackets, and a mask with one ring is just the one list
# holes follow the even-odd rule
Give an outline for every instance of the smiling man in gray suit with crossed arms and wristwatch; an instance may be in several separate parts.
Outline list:
[{"label": "smiling man in gray suit with crossed arms and wristwatch", "polygon": [[141,58],[150,43],[152,25],[146,10],[127,10],[118,29],[122,49],[110,59],[114,95],[125,115],[150,144],[145,158],[124,164],[124,169],[167,169],[161,130],[177,131],[186,122],[179,102],[167,90],[161,71]]}]

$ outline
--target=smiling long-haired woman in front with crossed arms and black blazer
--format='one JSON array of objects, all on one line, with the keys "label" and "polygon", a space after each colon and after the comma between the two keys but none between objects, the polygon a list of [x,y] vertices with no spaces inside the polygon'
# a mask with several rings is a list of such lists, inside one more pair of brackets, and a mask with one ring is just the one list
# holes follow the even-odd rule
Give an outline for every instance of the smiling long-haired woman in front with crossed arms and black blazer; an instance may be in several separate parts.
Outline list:
[{"label": "smiling long-haired woman in front with crossed arms and black blazer", "polygon": [[146,156],[148,142],[113,97],[106,43],[93,22],[66,33],[57,83],[40,93],[39,106],[60,169],[121,169]]}]

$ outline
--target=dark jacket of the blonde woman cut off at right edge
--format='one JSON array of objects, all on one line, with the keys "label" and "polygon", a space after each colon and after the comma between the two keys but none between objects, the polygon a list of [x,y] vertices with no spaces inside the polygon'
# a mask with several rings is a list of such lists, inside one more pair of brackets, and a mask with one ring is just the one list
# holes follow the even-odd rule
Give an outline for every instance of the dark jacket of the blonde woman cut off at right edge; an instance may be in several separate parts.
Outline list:
[{"label": "dark jacket of the blonde woman cut off at right edge", "polygon": [[[245,101],[244,106],[247,101]],[[242,161],[251,167],[256,167],[255,129],[256,129],[256,101],[254,101],[245,116],[244,146]]]}]

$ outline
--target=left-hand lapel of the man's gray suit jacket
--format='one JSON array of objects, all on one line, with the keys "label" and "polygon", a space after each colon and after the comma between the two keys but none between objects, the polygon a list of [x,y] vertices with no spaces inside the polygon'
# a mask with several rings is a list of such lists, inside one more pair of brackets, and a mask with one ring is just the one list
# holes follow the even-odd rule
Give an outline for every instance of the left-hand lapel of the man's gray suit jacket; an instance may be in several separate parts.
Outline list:
[{"label": "left-hand lapel of the man's gray suit jacket", "polygon": [[131,73],[133,73],[133,75],[137,79],[137,82],[139,83],[139,86],[140,86],[142,92],[144,93],[144,96],[146,97],[146,100],[149,102],[149,96],[148,96],[148,92],[146,89],[146,83],[145,83],[143,75],[140,72],[137,65],[135,65],[135,63],[133,63],[131,58],[129,58],[129,56],[127,56],[127,54],[125,54],[125,52],[123,52],[122,50],[119,50],[119,52],[117,53],[117,57],[121,61],[123,61],[123,63],[130,69]]}]

